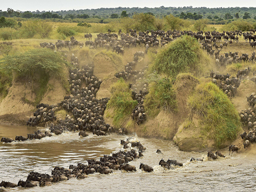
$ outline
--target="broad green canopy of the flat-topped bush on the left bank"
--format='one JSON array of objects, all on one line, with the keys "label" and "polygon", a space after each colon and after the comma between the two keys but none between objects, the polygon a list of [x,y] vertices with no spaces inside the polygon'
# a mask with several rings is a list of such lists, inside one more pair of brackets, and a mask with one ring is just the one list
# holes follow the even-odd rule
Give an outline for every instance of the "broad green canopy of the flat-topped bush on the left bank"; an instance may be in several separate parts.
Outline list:
[{"label": "broad green canopy of the flat-topped bush on the left bank", "polygon": [[7,55],[0,60],[0,69],[13,78],[33,82],[46,74],[63,78],[64,61],[59,53],[49,49],[35,49],[25,53]]}]

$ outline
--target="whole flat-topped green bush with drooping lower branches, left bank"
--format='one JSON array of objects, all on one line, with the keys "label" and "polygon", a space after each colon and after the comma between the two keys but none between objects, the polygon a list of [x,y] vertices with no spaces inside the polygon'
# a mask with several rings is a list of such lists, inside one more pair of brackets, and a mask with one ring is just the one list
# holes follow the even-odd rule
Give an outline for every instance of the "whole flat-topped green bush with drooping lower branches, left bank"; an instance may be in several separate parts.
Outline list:
[{"label": "whole flat-topped green bush with drooping lower branches, left bank", "polygon": [[[31,84],[32,91],[36,94],[35,101],[23,101],[37,105],[47,91],[47,84],[51,76],[60,79],[63,87],[68,89],[65,78],[67,62],[61,54],[50,49],[33,49],[24,53],[6,55],[0,60],[0,70],[14,81]],[[26,96],[26,95],[25,95]]]}]

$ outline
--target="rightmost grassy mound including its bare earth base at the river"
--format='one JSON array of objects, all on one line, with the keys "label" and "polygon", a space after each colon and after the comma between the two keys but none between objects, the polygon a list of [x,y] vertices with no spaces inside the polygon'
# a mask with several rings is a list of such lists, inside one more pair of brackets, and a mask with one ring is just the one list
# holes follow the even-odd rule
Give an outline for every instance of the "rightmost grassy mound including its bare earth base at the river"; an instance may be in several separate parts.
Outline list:
[{"label": "rightmost grassy mound including its bare earth base at the river", "polygon": [[241,130],[238,113],[217,85],[199,84],[189,97],[188,105],[190,118],[179,127],[174,139],[180,148],[222,148],[227,141],[236,139]]}]

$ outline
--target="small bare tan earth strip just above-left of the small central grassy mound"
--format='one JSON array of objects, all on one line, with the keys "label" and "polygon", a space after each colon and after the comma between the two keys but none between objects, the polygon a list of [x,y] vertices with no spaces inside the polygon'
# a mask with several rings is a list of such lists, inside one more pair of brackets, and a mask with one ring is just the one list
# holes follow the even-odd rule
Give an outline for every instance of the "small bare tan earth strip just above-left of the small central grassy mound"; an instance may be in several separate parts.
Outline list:
[{"label": "small bare tan earth strip just above-left of the small central grassy mound", "polygon": [[96,98],[97,99],[102,99],[106,97],[110,97],[110,87],[112,84],[116,83],[118,81],[118,78],[112,77],[109,79],[103,80],[103,82],[100,84],[100,89],[97,92]]}]

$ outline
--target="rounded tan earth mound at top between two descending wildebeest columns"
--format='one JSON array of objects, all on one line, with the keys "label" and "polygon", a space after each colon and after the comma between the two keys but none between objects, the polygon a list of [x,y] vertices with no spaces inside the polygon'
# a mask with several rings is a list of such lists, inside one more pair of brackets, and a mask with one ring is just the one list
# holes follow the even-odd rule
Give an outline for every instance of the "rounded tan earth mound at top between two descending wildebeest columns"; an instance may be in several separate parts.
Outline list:
[{"label": "rounded tan earth mound at top between two descending wildebeest columns", "polygon": [[100,52],[93,58],[94,75],[100,79],[111,78],[118,71],[124,70],[122,59],[111,52]]}]

